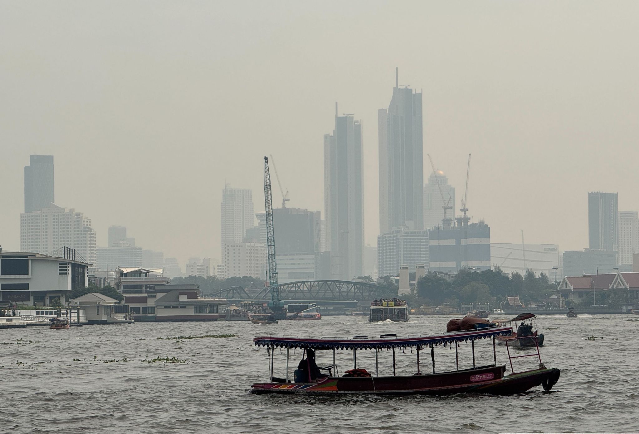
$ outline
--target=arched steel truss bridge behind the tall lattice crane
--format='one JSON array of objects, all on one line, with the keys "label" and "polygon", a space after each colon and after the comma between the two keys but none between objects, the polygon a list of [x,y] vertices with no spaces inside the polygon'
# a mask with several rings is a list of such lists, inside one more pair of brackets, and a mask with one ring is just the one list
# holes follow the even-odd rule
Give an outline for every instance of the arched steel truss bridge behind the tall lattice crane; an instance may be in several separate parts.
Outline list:
[{"label": "arched steel truss bridge behind the tall lattice crane", "polygon": [[[282,283],[279,285],[281,300],[297,301],[360,301],[373,300],[387,292],[388,288],[373,283],[349,280],[308,280]],[[230,300],[270,300],[271,290],[265,287],[256,294],[249,294],[242,287],[231,287],[210,294]]]}]

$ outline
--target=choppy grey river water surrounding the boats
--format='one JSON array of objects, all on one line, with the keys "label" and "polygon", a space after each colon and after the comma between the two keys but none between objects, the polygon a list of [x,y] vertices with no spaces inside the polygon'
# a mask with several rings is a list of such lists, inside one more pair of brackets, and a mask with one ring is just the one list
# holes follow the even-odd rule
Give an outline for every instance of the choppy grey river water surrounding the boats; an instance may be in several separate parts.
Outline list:
[{"label": "choppy grey river water surrounding the boats", "polygon": [[[542,358],[562,370],[551,393],[536,387],[518,396],[252,396],[251,382],[268,378],[258,335],[282,333],[355,336],[436,333],[449,317],[412,317],[403,324],[369,324],[367,318],[320,321],[90,325],[56,331],[27,327],[0,331],[0,431],[13,433],[379,433],[499,431],[636,431],[639,414],[639,317],[539,317],[546,334]],[[238,334],[236,338],[159,340],[167,336]],[[588,341],[589,334],[603,339]],[[470,344],[460,348],[462,368],[472,366]],[[476,343],[478,364],[491,363],[488,340]],[[523,350],[516,350],[523,351]],[[338,355],[350,369],[350,353]],[[504,347],[498,362],[509,364]],[[347,357],[348,356],[348,357]],[[176,357],[185,364],[148,363]],[[291,350],[290,373],[301,357]],[[454,368],[454,349],[436,348],[436,369]],[[358,352],[358,367],[374,372],[374,353]],[[428,352],[422,371],[431,368]],[[524,364],[529,358],[518,359]],[[392,355],[380,355],[380,375]],[[332,352],[318,352],[318,364]],[[417,370],[416,354],[397,352],[398,373]],[[518,371],[518,366],[515,366]],[[275,375],[286,376],[286,350],[275,352]],[[5,430],[6,428],[6,430]]]}]

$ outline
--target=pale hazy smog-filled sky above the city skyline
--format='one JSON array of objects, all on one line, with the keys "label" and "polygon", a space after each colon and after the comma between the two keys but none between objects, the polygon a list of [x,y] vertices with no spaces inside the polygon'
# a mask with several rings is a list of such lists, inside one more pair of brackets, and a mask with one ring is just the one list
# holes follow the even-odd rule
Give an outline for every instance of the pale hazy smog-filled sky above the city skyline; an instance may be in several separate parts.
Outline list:
[{"label": "pale hazy smog-filled sky above the city skyline", "polygon": [[[183,264],[220,257],[224,180],[323,211],[334,104],[364,126],[376,244],[378,108],[424,92],[427,153],[495,242],[587,247],[587,191],[639,209],[636,1],[0,1],[0,244],[19,249],[23,167],[56,203]],[[281,195],[273,187],[274,202]],[[458,201],[459,202],[459,201]]]}]

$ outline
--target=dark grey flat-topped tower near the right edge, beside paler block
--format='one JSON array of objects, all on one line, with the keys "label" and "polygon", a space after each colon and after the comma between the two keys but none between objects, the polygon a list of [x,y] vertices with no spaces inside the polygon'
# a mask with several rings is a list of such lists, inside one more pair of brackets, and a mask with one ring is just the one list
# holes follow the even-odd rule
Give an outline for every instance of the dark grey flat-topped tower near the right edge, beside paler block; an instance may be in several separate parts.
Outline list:
[{"label": "dark grey flat-topped tower near the right edge, beside paler block", "polygon": [[588,193],[589,250],[619,251],[617,193]]}]

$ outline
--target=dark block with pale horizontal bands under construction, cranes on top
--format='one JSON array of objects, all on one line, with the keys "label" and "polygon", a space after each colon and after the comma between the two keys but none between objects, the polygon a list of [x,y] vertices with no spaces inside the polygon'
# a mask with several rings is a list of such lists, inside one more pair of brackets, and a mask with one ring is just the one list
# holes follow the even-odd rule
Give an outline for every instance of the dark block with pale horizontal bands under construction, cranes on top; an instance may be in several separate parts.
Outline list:
[{"label": "dark block with pale horizontal bands under construction, cranes on top", "polygon": [[458,217],[454,226],[437,227],[428,235],[430,271],[490,269],[490,228],[483,221],[468,223]]}]

